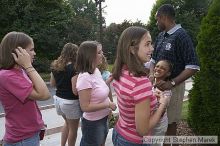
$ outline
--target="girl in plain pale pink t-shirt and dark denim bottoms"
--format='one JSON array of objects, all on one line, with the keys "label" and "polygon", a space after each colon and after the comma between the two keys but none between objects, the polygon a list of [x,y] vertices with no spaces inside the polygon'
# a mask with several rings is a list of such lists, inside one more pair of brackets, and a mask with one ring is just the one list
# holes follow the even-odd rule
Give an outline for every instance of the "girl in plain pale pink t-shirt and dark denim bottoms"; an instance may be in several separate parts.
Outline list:
[{"label": "girl in plain pale pink t-shirt and dark denim bottoms", "polygon": [[102,45],[83,42],[78,51],[76,88],[83,113],[81,146],[103,146],[108,134],[107,118],[116,105],[109,100],[109,87],[97,68],[102,63]]}]

